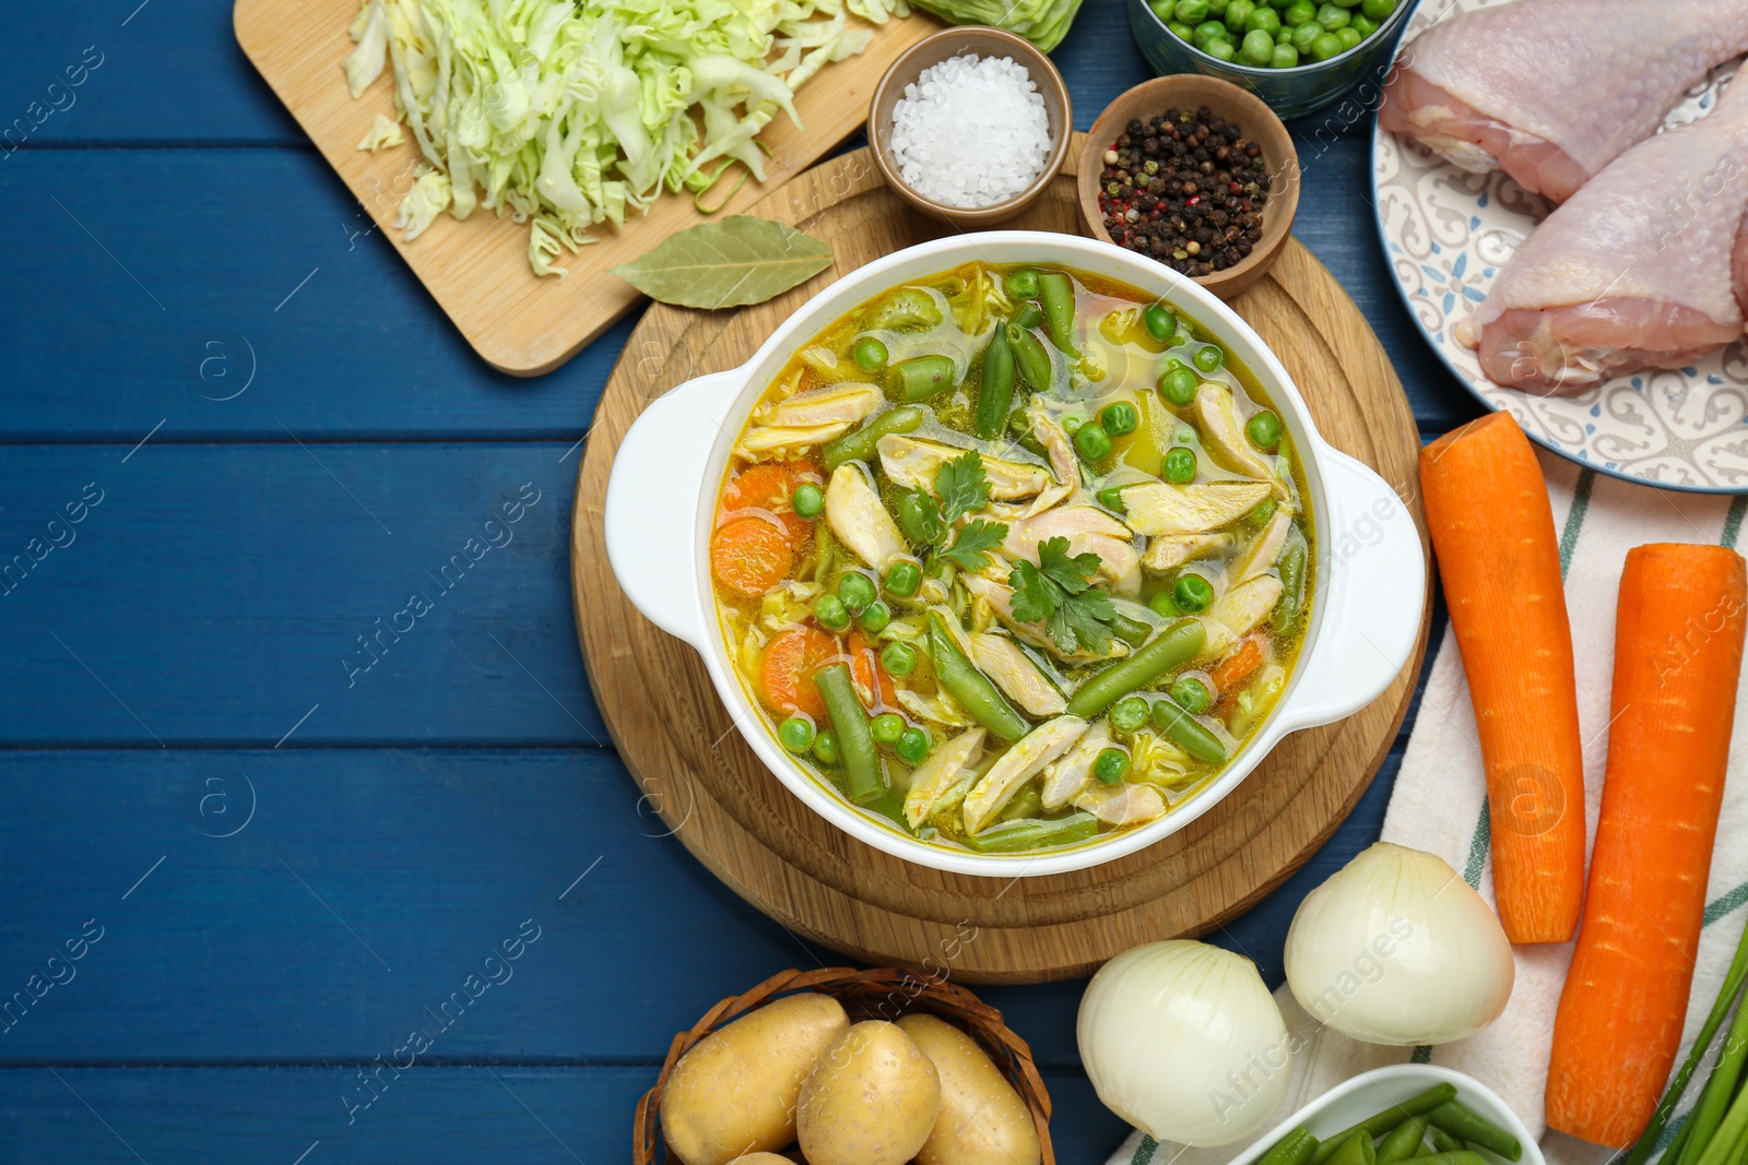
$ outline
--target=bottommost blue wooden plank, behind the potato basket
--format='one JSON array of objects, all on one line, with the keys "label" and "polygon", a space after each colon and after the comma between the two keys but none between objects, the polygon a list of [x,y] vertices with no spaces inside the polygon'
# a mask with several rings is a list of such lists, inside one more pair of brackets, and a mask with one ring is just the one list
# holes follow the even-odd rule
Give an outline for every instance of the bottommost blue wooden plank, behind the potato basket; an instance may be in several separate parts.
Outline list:
[{"label": "bottommost blue wooden plank, behind the potato basket", "polygon": [[[16,1162],[526,1165],[622,1162],[656,1067],[362,1065],[0,1069],[0,1144]],[[371,1086],[369,1109],[343,1097]],[[1127,1128],[1084,1076],[1045,1072],[1063,1165],[1103,1162]],[[302,1156],[306,1155],[306,1156]]]}]

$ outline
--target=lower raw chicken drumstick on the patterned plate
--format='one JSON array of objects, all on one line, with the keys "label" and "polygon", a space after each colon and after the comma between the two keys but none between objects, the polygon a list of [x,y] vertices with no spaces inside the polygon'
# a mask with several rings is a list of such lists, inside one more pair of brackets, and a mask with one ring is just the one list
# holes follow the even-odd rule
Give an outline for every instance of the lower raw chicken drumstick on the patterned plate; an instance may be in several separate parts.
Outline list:
[{"label": "lower raw chicken drumstick on the patterned plate", "polygon": [[1748,73],[1549,215],[1458,339],[1493,381],[1557,395],[1692,363],[1743,334],[1745,208]]}]

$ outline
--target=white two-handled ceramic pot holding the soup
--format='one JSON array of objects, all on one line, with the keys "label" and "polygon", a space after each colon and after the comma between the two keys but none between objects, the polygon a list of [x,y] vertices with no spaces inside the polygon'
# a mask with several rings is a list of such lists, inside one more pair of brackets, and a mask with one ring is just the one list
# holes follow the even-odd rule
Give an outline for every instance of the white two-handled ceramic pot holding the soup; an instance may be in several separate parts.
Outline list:
[{"label": "white two-handled ceramic pot holding the soup", "polygon": [[[1273,714],[1225,772],[1152,824],[1049,854],[972,854],[919,842],[857,809],[788,756],[727,660],[710,582],[717,491],[759,396],[790,355],[857,304],[965,262],[1075,267],[1180,306],[1257,377],[1299,451],[1316,529],[1316,594],[1299,662]],[[1409,489],[1412,482],[1402,482]],[[752,360],[687,381],[626,433],[607,486],[607,555],[643,615],[704,658],[736,728],[776,777],[857,840],[937,870],[988,877],[1061,873],[1110,861],[1176,833],[1250,776],[1297,728],[1370,704],[1407,662],[1419,634],[1426,568],[1419,533],[1395,489],[1328,445],[1274,353],[1218,299],[1166,267],[1108,243],[1068,234],[995,231],[921,243],[830,285],[792,314]]]}]

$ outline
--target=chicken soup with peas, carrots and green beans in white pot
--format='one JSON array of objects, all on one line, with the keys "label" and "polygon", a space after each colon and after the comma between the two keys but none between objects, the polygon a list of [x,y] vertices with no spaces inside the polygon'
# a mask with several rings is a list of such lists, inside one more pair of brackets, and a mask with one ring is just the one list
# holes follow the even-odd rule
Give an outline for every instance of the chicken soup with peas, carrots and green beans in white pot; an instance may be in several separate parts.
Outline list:
[{"label": "chicken soup with peas, carrots and green beans in white pot", "polygon": [[710,541],[781,746],[919,840],[1033,852],[1204,788],[1313,594],[1299,458],[1232,353],[1080,271],[970,264],[820,332]]}]

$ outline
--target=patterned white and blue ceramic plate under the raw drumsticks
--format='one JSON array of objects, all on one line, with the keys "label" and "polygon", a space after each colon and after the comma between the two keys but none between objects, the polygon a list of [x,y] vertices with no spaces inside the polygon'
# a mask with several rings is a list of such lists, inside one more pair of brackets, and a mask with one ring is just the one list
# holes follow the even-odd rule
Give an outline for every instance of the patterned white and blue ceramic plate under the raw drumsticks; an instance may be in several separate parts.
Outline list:
[{"label": "patterned white and blue ceramic plate under the raw drumsticks", "polygon": [[[1439,19],[1509,0],[1421,5],[1404,44]],[[1720,66],[1664,128],[1704,117],[1738,61]],[[1509,409],[1533,440],[1601,473],[1664,489],[1748,493],[1748,346],[1738,341],[1701,363],[1638,372],[1578,396],[1500,388],[1481,372],[1454,328],[1474,313],[1495,276],[1549,203],[1500,171],[1458,169],[1421,145],[1379,128],[1372,138],[1377,229],[1397,288],[1439,358],[1489,409]]]}]

